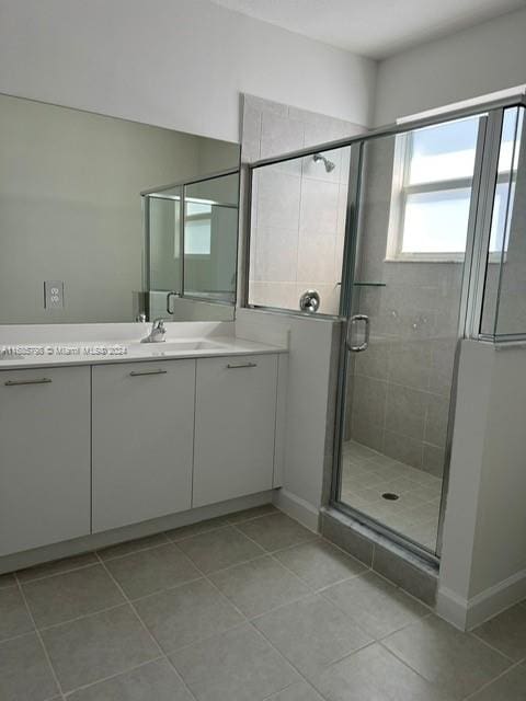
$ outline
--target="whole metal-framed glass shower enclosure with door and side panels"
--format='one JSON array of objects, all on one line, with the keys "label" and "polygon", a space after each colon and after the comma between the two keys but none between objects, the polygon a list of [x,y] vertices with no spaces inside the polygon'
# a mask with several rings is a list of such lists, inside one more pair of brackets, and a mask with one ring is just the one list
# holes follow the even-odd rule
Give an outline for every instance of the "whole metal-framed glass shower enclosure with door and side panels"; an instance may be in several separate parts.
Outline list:
[{"label": "whole metal-framed glass shower enclosure with door and side panels", "polygon": [[458,342],[526,337],[523,115],[515,97],[251,166],[247,304],[265,307],[261,271],[296,284],[267,307],[298,310],[290,271],[309,255],[311,273],[336,266],[332,504],[430,560],[441,553]]}]

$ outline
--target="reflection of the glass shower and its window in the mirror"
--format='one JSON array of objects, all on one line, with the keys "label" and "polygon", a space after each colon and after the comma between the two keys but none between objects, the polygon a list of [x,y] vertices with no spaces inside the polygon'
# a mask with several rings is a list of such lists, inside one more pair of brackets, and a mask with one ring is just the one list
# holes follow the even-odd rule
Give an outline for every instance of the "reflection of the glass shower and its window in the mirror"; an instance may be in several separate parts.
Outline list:
[{"label": "reflection of the glass shower and its window in the mirror", "polygon": [[150,318],[231,318],[238,198],[238,170],[145,193]]}]

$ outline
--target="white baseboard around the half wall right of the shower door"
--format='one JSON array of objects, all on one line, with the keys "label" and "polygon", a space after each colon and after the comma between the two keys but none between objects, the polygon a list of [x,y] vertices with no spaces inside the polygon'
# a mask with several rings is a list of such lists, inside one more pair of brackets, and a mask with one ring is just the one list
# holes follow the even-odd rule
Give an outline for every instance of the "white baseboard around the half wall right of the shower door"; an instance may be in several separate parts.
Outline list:
[{"label": "white baseboard around the half wall right of the shower door", "polygon": [[526,570],[522,570],[470,599],[462,599],[455,591],[439,587],[436,612],[456,628],[467,631],[525,598]]}]

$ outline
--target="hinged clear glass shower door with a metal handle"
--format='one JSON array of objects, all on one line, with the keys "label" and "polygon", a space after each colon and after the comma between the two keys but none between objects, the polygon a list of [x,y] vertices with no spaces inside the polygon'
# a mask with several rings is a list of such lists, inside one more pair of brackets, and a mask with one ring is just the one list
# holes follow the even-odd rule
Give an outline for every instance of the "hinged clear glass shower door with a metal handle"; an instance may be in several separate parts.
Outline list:
[{"label": "hinged clear glass shower door with a metal handle", "polygon": [[370,139],[359,164],[336,501],[432,553],[484,128]]}]

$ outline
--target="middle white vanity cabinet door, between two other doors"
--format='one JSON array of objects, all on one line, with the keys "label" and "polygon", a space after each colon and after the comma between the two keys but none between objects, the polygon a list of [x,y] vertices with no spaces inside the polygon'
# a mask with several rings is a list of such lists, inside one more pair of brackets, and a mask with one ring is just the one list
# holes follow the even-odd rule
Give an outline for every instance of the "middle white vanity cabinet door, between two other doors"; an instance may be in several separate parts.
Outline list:
[{"label": "middle white vanity cabinet door, between two other doors", "polygon": [[93,367],[93,531],[191,507],[195,360]]}]

